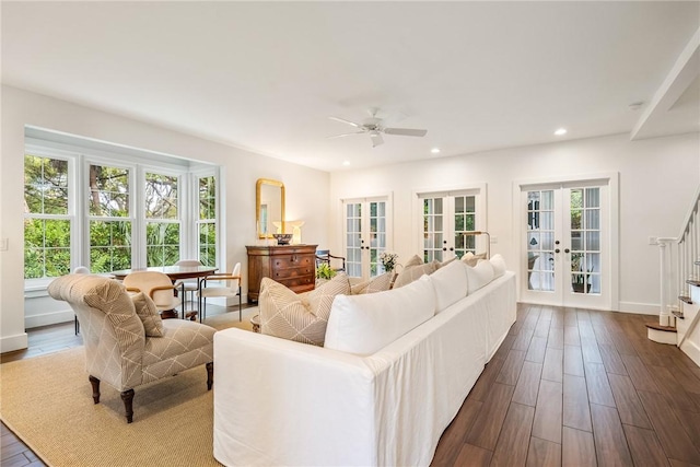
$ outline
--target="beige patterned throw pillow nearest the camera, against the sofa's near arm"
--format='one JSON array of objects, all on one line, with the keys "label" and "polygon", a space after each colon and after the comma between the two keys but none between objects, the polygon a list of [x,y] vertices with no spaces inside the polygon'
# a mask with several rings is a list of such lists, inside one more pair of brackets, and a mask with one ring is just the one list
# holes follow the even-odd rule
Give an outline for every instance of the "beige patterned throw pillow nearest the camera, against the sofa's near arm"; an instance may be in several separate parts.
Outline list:
[{"label": "beige patterned throw pillow nearest the camera, against the sofa's near arm", "polygon": [[330,306],[336,295],[350,293],[350,280],[339,273],[304,294],[269,278],[260,282],[260,332],[282,339],[323,346]]}]

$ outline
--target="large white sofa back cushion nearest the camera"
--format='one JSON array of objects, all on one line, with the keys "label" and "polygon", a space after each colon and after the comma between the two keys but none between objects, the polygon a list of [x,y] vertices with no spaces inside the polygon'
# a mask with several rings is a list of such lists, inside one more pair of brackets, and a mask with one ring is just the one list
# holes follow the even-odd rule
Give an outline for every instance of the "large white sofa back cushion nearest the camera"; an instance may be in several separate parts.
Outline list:
[{"label": "large white sofa back cushion nearest the camera", "polygon": [[429,277],[386,292],[338,295],[324,347],[370,355],[434,314],[435,292]]}]

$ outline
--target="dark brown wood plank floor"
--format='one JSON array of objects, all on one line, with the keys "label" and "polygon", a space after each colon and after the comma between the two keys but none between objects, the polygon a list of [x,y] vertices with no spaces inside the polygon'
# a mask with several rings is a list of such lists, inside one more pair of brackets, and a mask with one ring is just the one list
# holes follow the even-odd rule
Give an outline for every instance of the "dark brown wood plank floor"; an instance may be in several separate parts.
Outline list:
[{"label": "dark brown wood plank floor", "polygon": [[[517,322],[443,433],[434,466],[700,466],[700,367],[646,339],[653,316],[518,305]],[[2,362],[82,346],[30,330]],[[43,465],[2,425],[0,464]]]}]

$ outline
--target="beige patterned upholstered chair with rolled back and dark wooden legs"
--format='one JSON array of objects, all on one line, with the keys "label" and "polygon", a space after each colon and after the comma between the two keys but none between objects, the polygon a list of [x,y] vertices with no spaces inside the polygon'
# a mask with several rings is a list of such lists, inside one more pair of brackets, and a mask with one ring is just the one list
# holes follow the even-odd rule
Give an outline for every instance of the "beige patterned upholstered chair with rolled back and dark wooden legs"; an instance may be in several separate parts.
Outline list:
[{"label": "beige patterned upholstered chair with rolled back and dark wooden legs", "polygon": [[120,282],[101,276],[62,276],[50,283],[48,293],[68,302],[78,315],[94,402],[100,402],[100,382],[106,382],[121,393],[128,423],[137,386],[206,364],[211,389],[213,328],[162,320],[148,295],[131,295]]}]

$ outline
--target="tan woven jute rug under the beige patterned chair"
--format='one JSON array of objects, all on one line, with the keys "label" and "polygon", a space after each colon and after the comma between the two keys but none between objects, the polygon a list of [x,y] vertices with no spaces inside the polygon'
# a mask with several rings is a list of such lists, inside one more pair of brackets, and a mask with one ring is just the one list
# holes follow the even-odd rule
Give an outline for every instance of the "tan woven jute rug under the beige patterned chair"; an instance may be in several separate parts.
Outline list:
[{"label": "tan woven jute rug under the beige patterned chair", "polygon": [[[207,322],[250,329],[256,308]],[[234,316],[235,315],[235,316]],[[217,369],[214,367],[214,378]],[[112,386],[92,400],[82,347],[0,365],[0,419],[50,466],[221,466],[203,365],[136,388],[133,422]]]}]

